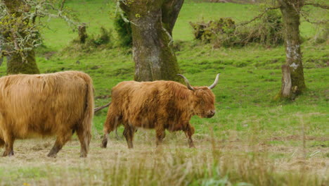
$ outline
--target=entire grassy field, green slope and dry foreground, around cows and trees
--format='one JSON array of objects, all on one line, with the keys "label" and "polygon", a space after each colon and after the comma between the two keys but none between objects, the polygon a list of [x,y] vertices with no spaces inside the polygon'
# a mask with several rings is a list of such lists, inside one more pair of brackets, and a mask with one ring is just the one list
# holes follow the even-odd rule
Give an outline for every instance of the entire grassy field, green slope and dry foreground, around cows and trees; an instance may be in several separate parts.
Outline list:
[{"label": "entire grassy field, green slope and dry foreground, around cows and trees", "polygon": [[[67,1],[67,6],[87,23],[89,35],[98,35],[101,26],[112,28],[111,1]],[[191,120],[196,149],[188,149],[182,132],[167,132],[163,147],[156,149],[153,130],[138,130],[134,150],[112,133],[108,149],[101,149],[104,109],[93,120],[88,158],[78,159],[77,137],[56,159],[46,158],[53,138],[18,140],[15,156],[0,158],[0,185],[329,185],[329,46],[312,42],[315,27],[301,25],[307,91],[295,101],[275,102],[283,46],[214,49],[193,41],[188,24],[256,15],[257,8],[245,4],[186,1],[181,9],[173,35],[183,75],[198,86],[211,85],[221,73],[213,89],[217,114]],[[43,30],[46,48],[37,49],[41,73],[88,73],[96,106],[110,101],[110,89],[118,82],[133,80],[131,51],[117,46],[115,33],[112,49],[82,53],[65,49],[77,33],[62,20],[51,20],[49,27]],[[0,66],[0,75],[5,74],[6,63]]]}]

